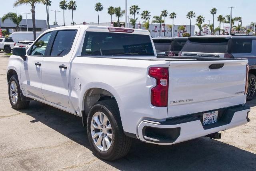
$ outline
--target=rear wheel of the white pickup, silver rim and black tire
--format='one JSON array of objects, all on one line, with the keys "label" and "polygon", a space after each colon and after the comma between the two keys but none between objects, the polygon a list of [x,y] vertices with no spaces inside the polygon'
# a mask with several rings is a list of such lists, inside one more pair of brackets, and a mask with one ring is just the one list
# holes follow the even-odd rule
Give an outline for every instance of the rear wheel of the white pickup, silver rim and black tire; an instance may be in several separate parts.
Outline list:
[{"label": "rear wheel of the white pickup, silver rim and black tire", "polygon": [[99,101],[90,109],[87,134],[92,151],[105,160],[124,157],[131,146],[131,138],[123,132],[118,105],[114,100]]}]

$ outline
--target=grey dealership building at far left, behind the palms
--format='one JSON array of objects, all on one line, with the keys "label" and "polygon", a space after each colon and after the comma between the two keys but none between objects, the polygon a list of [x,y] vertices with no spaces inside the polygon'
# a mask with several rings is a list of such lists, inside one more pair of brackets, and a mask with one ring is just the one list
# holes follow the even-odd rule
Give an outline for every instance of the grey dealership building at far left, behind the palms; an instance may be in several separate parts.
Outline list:
[{"label": "grey dealership building at far left, behind the palms", "polygon": [[[0,18],[0,28],[6,30],[8,33],[12,33],[16,31],[16,24],[10,19],[6,19],[3,23],[2,18]],[[19,28],[19,31],[27,31],[26,19],[22,19]],[[47,30],[46,20],[36,20],[36,32],[43,32],[45,30]],[[28,19],[28,31],[33,31],[32,19]]]}]

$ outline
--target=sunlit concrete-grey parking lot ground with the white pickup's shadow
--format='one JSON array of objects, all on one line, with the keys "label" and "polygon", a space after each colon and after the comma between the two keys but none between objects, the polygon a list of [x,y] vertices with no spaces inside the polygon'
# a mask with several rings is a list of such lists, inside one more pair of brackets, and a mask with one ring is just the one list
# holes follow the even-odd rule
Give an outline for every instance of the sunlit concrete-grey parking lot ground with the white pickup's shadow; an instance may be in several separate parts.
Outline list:
[{"label": "sunlit concrete-grey parking lot ground with the white pickup's shadow", "polygon": [[0,170],[256,170],[256,99],[251,121],[201,137],[160,146],[134,140],[128,155],[108,162],[95,157],[80,117],[32,101],[14,110],[8,99],[6,66],[0,52]]}]

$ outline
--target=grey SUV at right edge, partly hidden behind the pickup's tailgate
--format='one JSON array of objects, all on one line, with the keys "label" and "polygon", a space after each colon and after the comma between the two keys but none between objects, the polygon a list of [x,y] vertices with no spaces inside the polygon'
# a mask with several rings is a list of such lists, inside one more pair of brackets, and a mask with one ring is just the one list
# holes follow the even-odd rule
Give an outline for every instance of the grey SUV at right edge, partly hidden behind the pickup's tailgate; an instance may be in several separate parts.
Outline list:
[{"label": "grey SUV at right edge, partly hidden behind the pickup's tailgate", "polygon": [[188,38],[179,56],[246,58],[249,64],[247,100],[256,95],[256,36],[196,36]]}]

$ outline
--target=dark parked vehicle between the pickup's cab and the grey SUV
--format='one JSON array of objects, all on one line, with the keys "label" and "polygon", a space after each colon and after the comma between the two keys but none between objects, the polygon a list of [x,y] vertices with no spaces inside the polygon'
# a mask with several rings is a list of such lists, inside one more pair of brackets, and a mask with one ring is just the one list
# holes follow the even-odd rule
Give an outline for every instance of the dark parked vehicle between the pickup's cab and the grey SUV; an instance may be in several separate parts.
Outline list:
[{"label": "dark parked vehicle between the pickup's cab and the grey SUV", "polygon": [[178,56],[188,38],[153,38],[157,56]]}]

